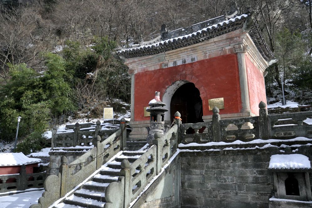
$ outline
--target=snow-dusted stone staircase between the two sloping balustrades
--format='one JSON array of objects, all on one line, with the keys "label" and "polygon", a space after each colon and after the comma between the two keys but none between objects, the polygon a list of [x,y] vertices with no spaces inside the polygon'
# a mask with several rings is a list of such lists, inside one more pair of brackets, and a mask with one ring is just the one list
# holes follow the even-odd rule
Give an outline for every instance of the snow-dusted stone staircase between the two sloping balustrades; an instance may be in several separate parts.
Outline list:
[{"label": "snow-dusted stone staircase between the two sloping balustrades", "polygon": [[[76,190],[72,195],[65,198],[62,203],[55,205],[54,208],[104,207],[106,203],[105,190],[110,183],[117,181],[118,177],[121,176],[122,160],[127,159],[132,164],[146,151],[146,149],[143,151],[123,151],[114,160],[104,164],[99,173],[84,183],[81,189]],[[138,172],[139,170],[136,170],[136,173]]]}]

